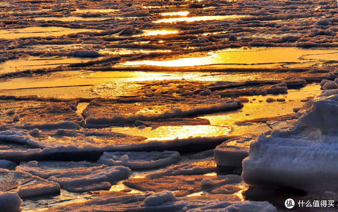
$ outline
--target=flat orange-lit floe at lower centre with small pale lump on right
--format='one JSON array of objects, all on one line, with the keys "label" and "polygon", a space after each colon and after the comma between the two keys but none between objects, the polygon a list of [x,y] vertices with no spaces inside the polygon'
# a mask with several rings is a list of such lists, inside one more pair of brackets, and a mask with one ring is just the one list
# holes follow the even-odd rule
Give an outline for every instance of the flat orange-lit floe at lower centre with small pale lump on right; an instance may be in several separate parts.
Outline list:
[{"label": "flat orange-lit floe at lower centre with small pale lump on right", "polygon": [[165,190],[172,191],[175,196],[185,196],[202,189],[212,190],[215,187],[226,184],[235,184],[241,182],[238,175],[226,176],[208,176],[208,175],[178,175],[163,176],[159,178],[130,178],[123,182],[132,188],[161,192]]}]

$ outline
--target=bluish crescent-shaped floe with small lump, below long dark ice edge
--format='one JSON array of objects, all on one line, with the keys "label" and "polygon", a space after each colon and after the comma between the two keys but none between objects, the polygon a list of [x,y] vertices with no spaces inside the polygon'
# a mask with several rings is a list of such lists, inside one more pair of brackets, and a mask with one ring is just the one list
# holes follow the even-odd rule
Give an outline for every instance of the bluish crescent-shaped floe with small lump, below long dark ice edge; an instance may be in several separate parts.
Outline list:
[{"label": "bluish crescent-shaped floe with small lump, below long dark ice edge", "polygon": [[178,152],[104,152],[97,161],[108,166],[126,166],[130,169],[151,169],[175,163],[181,159]]}]

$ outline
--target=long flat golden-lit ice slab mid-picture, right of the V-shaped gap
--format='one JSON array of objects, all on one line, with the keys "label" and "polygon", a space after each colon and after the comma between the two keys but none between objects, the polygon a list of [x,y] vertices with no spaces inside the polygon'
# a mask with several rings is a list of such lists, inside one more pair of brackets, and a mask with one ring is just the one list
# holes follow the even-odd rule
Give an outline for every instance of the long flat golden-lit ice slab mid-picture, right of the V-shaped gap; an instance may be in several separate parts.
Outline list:
[{"label": "long flat golden-lit ice slab mid-picture, right of the V-shaped gap", "polygon": [[[154,102],[156,102],[156,105],[154,105]],[[218,99],[201,99],[196,101],[188,101],[186,99],[172,101],[154,98],[121,100],[98,99],[89,103],[87,108],[83,110],[83,115],[86,117],[85,126],[95,127],[121,125],[135,121],[178,118],[232,110],[240,107],[242,107],[240,101],[236,100],[224,102]]]}]

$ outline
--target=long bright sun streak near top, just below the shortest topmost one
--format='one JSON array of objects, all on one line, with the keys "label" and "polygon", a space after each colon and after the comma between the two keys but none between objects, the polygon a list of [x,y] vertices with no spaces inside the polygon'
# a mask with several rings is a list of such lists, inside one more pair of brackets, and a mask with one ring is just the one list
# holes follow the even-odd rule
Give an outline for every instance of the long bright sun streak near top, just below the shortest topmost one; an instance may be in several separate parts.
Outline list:
[{"label": "long bright sun streak near top, just below the shortest topmost one", "polygon": [[233,18],[243,18],[246,15],[231,15],[231,16],[196,16],[196,17],[183,17],[183,18],[169,18],[169,19],[161,19],[158,21],[153,21],[154,23],[172,23],[178,21],[186,21],[186,22],[193,22],[193,21],[207,21],[207,20],[224,20],[224,19],[233,19]]}]

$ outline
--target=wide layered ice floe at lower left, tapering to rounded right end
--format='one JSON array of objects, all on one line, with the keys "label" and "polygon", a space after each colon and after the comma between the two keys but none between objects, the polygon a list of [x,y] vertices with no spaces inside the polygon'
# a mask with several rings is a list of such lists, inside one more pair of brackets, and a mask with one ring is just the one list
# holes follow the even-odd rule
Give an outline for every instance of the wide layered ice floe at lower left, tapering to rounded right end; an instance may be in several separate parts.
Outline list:
[{"label": "wide layered ice floe at lower left, tapering to rounded right end", "polygon": [[20,163],[16,171],[23,171],[56,182],[71,192],[110,188],[111,183],[131,174],[131,170],[127,167],[100,166],[100,164],[87,161],[30,161]]}]

